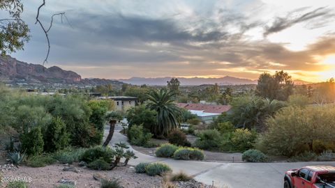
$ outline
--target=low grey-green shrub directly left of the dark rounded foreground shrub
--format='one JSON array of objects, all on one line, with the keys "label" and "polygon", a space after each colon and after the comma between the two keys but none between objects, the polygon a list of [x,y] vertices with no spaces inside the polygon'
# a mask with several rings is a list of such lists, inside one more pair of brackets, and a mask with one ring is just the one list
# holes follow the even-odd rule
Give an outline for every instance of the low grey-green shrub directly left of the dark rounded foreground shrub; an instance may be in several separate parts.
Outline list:
[{"label": "low grey-green shrub directly left of the dark rounded foreground shrub", "polygon": [[80,157],[85,152],[83,148],[67,148],[65,150],[61,150],[55,152],[53,154],[54,159],[57,159],[60,163],[63,164],[72,164],[73,162],[79,162]]}]

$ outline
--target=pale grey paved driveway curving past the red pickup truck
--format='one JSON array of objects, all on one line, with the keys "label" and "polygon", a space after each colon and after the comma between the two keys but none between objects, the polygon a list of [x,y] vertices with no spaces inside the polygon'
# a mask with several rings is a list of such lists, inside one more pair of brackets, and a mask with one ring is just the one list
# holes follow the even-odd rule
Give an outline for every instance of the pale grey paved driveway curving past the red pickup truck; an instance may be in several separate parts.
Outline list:
[{"label": "pale grey paved driveway curving past the red pickup truck", "polygon": [[[117,126],[110,145],[119,141],[127,142],[126,136],[119,133],[121,126]],[[106,127],[105,136],[108,128]],[[133,148],[131,148],[133,150]],[[288,169],[297,169],[301,166],[315,164],[332,165],[335,162],[294,162],[294,163],[220,163],[179,161],[174,159],[158,158],[136,153],[137,159],[129,162],[131,165],[140,162],[164,162],[171,166],[174,172],[184,171],[193,175],[195,180],[217,187],[246,188],[246,187],[283,187],[283,175]]]}]

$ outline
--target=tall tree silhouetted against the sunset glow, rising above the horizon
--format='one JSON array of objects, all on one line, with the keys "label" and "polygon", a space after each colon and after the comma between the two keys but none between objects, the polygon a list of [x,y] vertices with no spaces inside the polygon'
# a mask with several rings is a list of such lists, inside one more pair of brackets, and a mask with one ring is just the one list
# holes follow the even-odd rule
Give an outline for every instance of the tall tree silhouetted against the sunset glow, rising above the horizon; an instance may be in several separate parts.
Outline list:
[{"label": "tall tree silhouetted against the sunset glow, rising above the horizon", "polygon": [[258,79],[256,93],[270,100],[288,100],[293,93],[293,86],[291,76],[283,70],[274,75],[263,73]]}]

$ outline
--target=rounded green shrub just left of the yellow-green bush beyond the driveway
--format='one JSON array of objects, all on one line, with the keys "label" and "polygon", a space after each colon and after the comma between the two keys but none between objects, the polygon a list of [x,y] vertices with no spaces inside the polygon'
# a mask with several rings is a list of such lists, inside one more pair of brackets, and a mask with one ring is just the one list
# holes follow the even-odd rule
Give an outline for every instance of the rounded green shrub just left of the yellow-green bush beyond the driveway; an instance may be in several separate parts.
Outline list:
[{"label": "rounded green shrub just left of the yellow-green bush beyond the driveway", "polygon": [[221,135],[217,130],[202,130],[194,145],[205,150],[217,150],[221,143]]}]

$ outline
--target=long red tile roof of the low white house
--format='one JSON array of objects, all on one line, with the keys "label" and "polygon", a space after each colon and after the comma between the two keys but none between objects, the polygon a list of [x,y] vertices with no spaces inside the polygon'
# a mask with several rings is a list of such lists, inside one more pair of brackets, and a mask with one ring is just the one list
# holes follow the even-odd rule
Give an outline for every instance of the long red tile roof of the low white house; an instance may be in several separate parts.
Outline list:
[{"label": "long red tile roof of the low white house", "polygon": [[188,110],[198,110],[206,113],[223,113],[230,110],[229,105],[178,103],[178,106]]}]

